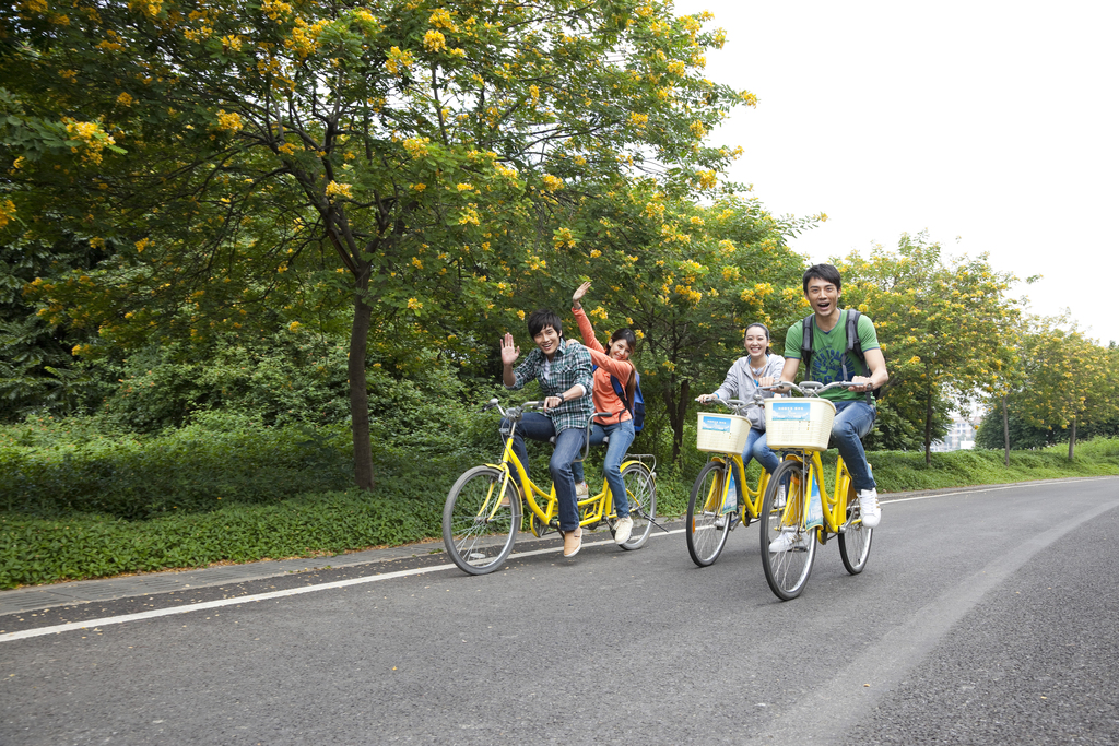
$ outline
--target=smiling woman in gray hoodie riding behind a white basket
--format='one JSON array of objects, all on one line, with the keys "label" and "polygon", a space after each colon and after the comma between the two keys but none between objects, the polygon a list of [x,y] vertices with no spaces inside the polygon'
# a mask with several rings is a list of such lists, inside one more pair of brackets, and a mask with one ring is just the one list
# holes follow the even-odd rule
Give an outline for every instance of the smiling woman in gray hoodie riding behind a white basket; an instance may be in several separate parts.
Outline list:
[{"label": "smiling woman in gray hoodie riding behind a white basket", "polygon": [[[781,369],[784,367],[784,358],[770,352],[769,329],[763,323],[752,323],[746,327],[746,337],[743,341],[747,355],[734,361],[731,369],[726,371],[726,380],[714,394],[702,394],[698,397],[700,403],[713,399],[742,399],[751,402],[754,389],[759,386],[772,386],[781,380]],[[762,391],[765,398],[774,396],[773,391]],[[765,445],[765,410],[751,405],[745,413],[750,421],[750,434],[746,435],[746,446],[742,450],[743,469],[754,457],[762,469],[773,473],[781,460]]]}]

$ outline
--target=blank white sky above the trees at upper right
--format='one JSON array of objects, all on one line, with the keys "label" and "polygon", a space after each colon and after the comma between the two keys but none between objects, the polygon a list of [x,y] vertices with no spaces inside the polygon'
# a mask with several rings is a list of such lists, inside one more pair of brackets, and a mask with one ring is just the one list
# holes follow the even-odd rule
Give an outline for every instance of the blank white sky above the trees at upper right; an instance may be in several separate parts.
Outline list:
[{"label": "blank white sky above the trees at upper right", "polygon": [[[1119,2],[677,0],[727,31],[707,76],[759,97],[711,142],[775,215],[826,213],[792,242],[814,261],[928,229],[990,254],[1119,341]],[[959,237],[959,240],[957,240]]]}]

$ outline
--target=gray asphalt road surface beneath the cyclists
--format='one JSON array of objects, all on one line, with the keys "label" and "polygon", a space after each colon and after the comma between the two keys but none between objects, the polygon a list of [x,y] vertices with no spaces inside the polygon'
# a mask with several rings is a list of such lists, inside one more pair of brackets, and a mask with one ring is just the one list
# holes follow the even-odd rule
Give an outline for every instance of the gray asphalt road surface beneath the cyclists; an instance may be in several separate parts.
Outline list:
[{"label": "gray asphalt road surface beneath the cyclists", "polygon": [[886,502],[788,603],[749,527],[11,639],[0,744],[1116,744],[1117,540],[1119,480],[1070,480]]}]

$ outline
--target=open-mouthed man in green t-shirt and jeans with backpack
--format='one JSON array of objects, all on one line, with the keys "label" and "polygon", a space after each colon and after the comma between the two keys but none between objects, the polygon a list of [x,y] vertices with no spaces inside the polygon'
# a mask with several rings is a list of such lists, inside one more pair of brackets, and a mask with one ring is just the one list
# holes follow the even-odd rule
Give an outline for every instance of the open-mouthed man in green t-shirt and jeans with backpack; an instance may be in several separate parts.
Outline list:
[{"label": "open-mouthed man in green t-shirt and jeans with backpack", "polygon": [[[812,356],[811,370],[806,380],[830,384],[837,380],[854,381],[856,386],[833,389],[824,396],[836,405],[836,418],[831,424],[831,440],[850,471],[852,482],[858,492],[863,525],[874,528],[882,520],[878,492],[874,475],[866,463],[863,436],[874,425],[876,409],[866,402],[866,391],[881,387],[888,380],[886,359],[882,356],[874,322],[862,315],[858,319],[858,339],[866,358],[871,376],[863,374],[863,363],[847,352],[847,311],[839,310],[839,294],[843,281],[839,271],[830,264],[817,264],[805,271],[803,290],[808,304],[812,308]],[[781,380],[796,381],[800,367],[800,346],[803,327],[800,321],[789,327],[784,338],[784,369]],[[793,546],[793,537],[782,533],[770,545],[770,551],[784,551]]]}]

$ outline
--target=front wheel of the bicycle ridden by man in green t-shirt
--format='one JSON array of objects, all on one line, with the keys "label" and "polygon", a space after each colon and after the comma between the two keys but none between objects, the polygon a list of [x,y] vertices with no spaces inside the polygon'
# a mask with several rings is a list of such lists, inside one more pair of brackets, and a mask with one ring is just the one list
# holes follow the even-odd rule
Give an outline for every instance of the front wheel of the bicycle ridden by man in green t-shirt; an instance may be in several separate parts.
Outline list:
[{"label": "front wheel of the bicycle ridden by man in green t-shirt", "polygon": [[[770,478],[762,499],[762,568],[770,589],[781,601],[800,595],[816,558],[816,529],[803,529],[805,479],[799,461],[782,461]],[[770,545],[786,533],[791,545],[770,551]]]}]

